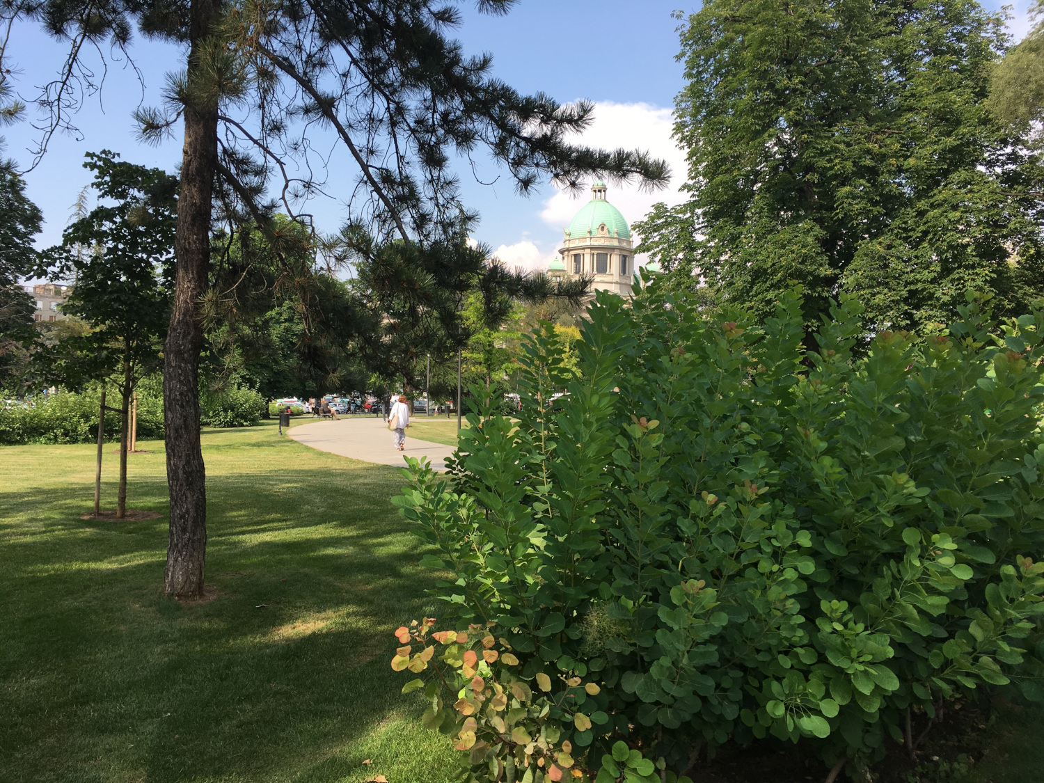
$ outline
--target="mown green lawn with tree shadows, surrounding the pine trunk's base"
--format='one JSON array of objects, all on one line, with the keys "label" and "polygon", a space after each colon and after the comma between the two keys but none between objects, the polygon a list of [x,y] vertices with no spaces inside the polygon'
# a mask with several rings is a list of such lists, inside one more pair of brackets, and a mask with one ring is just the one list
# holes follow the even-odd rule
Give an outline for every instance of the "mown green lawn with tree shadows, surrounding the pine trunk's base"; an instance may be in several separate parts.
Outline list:
[{"label": "mown green lawn with tree shadows, surrounding the pine trunk's base", "polygon": [[0,781],[448,780],[454,752],[388,666],[390,632],[432,610],[398,472],[271,423],[203,441],[217,597],[192,606],[161,592],[162,443],[130,457],[148,522],[79,518],[92,446],[0,448]]}]

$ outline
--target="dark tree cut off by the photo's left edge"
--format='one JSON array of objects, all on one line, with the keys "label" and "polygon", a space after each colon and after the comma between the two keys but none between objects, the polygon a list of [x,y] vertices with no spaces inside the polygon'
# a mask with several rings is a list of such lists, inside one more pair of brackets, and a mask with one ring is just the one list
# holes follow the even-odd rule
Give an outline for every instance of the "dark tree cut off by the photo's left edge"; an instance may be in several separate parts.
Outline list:
[{"label": "dark tree cut off by the photo's left edge", "polygon": [[43,215],[25,195],[25,182],[14,163],[0,162],[0,388],[25,360],[23,346],[35,336],[32,299],[19,281],[37,265],[32,238],[42,222]]}]

